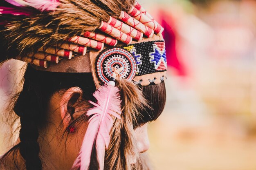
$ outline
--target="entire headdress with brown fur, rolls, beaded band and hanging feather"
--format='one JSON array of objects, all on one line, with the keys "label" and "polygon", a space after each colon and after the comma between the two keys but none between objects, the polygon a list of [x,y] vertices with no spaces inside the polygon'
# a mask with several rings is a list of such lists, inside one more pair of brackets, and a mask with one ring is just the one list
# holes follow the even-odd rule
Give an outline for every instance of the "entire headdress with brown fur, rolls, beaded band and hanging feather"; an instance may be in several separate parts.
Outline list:
[{"label": "entire headdress with brown fur, rolls, beaded band and hanging feather", "polygon": [[137,86],[166,79],[162,26],[133,0],[5,1],[0,50],[6,56],[0,62],[15,58],[38,70],[93,75],[97,103],[90,102],[72,170],[103,170],[104,155],[119,157],[108,169],[131,170],[126,158],[137,157],[133,124],[146,105]]}]

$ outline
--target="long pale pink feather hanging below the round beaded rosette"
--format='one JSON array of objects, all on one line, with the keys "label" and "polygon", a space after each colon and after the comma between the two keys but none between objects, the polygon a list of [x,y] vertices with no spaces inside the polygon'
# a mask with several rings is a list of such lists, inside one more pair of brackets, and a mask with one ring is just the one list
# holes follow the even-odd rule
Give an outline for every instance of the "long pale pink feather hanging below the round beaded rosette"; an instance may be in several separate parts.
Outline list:
[{"label": "long pale pink feather hanging below the round beaded rosette", "polygon": [[[92,158],[92,150],[96,149],[99,170],[104,167],[105,149],[110,144],[110,130],[113,126],[112,116],[121,119],[121,100],[119,89],[113,86],[101,86],[94,93],[97,104],[91,102],[94,108],[88,110],[86,115],[92,116],[89,119],[88,128],[83,139],[79,156],[74,161],[72,170],[88,170]],[[95,148],[94,148],[95,146]]]}]

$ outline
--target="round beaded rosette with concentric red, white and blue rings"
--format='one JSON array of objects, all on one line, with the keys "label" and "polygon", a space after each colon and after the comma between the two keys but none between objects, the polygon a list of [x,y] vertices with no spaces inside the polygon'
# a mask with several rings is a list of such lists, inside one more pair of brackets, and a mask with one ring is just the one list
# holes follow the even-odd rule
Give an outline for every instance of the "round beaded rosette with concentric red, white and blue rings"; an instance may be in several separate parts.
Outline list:
[{"label": "round beaded rosette with concentric red, white and blue rings", "polygon": [[96,67],[101,81],[108,84],[114,69],[119,71],[121,78],[132,80],[135,77],[137,65],[131,53],[123,48],[113,48],[99,55]]}]

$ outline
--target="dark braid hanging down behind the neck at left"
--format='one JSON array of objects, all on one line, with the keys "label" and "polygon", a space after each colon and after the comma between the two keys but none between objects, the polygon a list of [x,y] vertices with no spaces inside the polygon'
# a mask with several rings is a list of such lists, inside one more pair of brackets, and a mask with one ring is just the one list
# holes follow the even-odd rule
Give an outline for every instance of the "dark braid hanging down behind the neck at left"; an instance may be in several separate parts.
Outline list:
[{"label": "dark braid hanging down behind the neck at left", "polygon": [[27,170],[42,170],[38,144],[38,126],[42,121],[38,121],[40,120],[38,116],[43,115],[40,113],[43,110],[38,109],[38,113],[34,113],[33,107],[40,107],[38,106],[38,95],[31,92],[29,100],[26,100],[26,94],[28,93],[29,88],[24,88],[14,108],[15,113],[20,116],[19,151],[26,161]]}]

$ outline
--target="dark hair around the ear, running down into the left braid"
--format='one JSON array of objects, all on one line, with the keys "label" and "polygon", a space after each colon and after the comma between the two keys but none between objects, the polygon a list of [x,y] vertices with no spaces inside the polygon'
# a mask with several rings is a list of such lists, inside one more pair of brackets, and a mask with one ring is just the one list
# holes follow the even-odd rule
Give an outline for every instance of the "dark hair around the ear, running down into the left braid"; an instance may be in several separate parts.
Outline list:
[{"label": "dark hair around the ear, running down into the left braid", "polygon": [[[26,170],[43,170],[38,140],[40,129],[47,125],[47,105],[54,92],[79,86],[83,98],[92,100],[95,91],[91,73],[51,73],[36,71],[27,66],[23,89],[16,100],[13,110],[20,117],[20,143],[11,148],[1,159],[0,167],[9,167],[8,159],[13,159],[14,168],[20,170],[17,152],[25,162]],[[12,166],[12,165],[11,165]],[[13,167],[10,168],[13,170]]]}]

